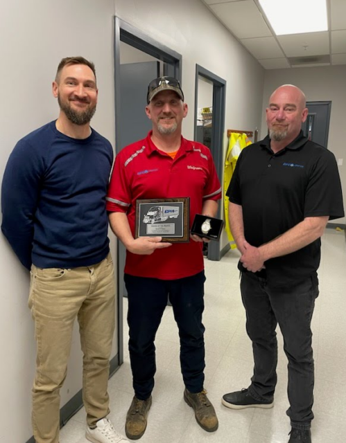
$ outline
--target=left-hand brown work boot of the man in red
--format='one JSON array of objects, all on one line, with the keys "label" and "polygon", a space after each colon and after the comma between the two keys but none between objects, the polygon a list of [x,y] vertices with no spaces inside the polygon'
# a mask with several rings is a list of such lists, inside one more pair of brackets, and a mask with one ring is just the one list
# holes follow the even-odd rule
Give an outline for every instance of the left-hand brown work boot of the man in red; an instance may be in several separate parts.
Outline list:
[{"label": "left-hand brown work boot of the man in red", "polygon": [[151,395],[146,400],[139,400],[133,397],[130,409],[126,415],[125,432],[126,437],[131,440],[138,440],[146,431],[146,417],[151,406]]}]

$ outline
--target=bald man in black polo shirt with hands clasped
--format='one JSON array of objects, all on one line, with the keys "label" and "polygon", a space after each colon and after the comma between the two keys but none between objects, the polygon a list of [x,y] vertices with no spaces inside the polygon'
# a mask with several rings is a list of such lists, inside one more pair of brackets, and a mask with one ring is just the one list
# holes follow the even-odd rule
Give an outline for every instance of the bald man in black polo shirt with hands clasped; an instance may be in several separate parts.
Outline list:
[{"label": "bald man in black polo shirt with hands clasped", "polygon": [[254,374],[247,389],[222,402],[233,409],[273,407],[279,324],[288,358],[289,443],[311,443],[320,237],[328,220],[344,215],[336,159],[304,137],[307,114],[300,89],[274,91],[266,109],[269,135],[241,152],[227,190]]}]

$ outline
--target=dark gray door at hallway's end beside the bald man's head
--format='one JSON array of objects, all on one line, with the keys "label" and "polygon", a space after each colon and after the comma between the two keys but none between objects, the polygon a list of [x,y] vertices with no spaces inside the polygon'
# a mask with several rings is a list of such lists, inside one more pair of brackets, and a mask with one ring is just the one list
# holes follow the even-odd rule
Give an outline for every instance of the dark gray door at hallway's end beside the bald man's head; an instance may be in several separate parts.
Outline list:
[{"label": "dark gray door at hallway's end beside the bald man's head", "polygon": [[306,102],[308,118],[303,123],[304,136],[324,147],[328,147],[331,102]]}]

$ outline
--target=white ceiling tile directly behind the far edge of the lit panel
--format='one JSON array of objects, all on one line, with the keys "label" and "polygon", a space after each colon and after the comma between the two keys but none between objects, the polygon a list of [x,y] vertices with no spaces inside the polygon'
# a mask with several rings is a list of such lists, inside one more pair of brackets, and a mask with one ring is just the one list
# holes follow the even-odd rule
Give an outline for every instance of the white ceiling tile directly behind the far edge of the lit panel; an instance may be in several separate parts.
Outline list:
[{"label": "white ceiling tile directly behind the far edge of the lit panel", "polygon": [[287,57],[329,54],[329,33],[280,35],[277,37]]}]

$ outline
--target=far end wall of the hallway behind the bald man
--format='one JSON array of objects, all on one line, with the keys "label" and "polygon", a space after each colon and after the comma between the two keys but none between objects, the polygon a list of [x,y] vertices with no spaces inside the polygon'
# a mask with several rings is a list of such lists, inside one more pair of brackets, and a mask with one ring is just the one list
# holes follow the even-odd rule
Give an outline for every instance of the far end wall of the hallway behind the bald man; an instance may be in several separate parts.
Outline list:
[{"label": "far end wall of the hallway behind the bald man", "polygon": [[[266,71],[263,89],[263,109],[268,106],[270,94],[282,84],[295,84],[304,91],[309,102],[331,100],[328,149],[336,159],[343,159],[339,166],[346,208],[346,152],[345,152],[345,103],[346,66],[321,66],[318,68],[273,69]],[[261,138],[266,136],[266,114],[263,112]],[[345,218],[331,223],[345,223]]]}]

